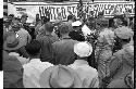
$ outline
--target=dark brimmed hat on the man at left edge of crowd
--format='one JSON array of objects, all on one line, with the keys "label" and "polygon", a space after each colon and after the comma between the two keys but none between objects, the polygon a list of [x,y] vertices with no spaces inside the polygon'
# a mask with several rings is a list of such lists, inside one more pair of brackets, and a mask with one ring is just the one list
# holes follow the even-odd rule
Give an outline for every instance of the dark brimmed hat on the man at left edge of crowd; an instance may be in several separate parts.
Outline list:
[{"label": "dark brimmed hat on the man at left edge of crowd", "polygon": [[16,35],[9,36],[3,43],[4,50],[16,50],[23,46],[23,41],[20,38],[16,38]]}]

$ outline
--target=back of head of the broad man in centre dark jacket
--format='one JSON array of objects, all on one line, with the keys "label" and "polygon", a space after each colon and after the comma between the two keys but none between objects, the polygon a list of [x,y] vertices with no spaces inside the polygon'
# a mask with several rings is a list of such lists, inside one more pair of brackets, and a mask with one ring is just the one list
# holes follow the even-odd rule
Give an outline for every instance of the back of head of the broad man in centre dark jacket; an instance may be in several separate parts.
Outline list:
[{"label": "back of head of the broad man in centre dark jacket", "polygon": [[59,31],[61,35],[65,35],[70,33],[70,25],[62,23],[61,25],[59,25]]}]

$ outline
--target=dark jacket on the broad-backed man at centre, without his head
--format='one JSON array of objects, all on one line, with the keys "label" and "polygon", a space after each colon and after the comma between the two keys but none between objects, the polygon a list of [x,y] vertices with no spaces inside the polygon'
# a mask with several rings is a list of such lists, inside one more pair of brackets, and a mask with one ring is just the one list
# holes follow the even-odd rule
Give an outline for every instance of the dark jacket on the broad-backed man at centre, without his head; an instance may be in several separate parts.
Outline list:
[{"label": "dark jacket on the broad-backed man at centre, without his head", "polygon": [[76,40],[71,38],[62,39],[52,43],[53,46],[53,63],[69,65],[74,63],[76,54],[74,53],[74,44]]}]

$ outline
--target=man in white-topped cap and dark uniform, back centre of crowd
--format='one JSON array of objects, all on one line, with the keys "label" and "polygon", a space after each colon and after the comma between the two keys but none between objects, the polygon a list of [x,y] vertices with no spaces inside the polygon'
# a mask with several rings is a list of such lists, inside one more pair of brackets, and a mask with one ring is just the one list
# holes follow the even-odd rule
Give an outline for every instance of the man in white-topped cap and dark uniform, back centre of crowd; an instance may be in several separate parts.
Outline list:
[{"label": "man in white-topped cap and dark uniform, back centre of crowd", "polygon": [[69,36],[73,40],[85,41],[84,35],[82,33],[82,22],[76,21],[76,22],[72,23],[72,26],[73,26],[73,31],[71,31],[69,34]]}]

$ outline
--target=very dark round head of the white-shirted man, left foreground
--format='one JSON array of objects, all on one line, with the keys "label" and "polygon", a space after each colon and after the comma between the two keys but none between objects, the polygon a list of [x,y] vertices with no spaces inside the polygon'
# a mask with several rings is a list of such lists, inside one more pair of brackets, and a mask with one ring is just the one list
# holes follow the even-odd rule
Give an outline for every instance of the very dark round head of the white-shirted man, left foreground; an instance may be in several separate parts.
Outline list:
[{"label": "very dark round head of the white-shirted man, left foreground", "polygon": [[29,43],[26,44],[25,50],[32,56],[37,55],[40,52],[41,46],[38,40],[32,40]]}]

